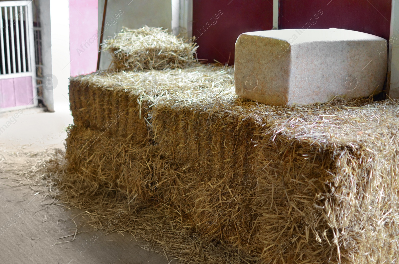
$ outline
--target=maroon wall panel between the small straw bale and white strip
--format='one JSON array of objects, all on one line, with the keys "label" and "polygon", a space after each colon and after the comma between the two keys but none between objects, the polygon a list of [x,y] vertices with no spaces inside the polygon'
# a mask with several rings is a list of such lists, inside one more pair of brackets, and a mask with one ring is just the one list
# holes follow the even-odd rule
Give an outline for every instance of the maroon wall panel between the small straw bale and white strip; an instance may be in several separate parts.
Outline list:
[{"label": "maroon wall panel between the small straw bale and white strip", "polygon": [[198,59],[234,63],[235,41],[241,33],[272,27],[273,0],[193,0]]}]

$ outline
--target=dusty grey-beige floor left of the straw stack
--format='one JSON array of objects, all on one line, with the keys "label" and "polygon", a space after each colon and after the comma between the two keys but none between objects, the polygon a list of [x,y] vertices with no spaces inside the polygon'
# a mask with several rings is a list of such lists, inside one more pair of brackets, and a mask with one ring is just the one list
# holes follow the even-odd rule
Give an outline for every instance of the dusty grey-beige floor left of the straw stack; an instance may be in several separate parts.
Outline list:
[{"label": "dusty grey-beige floor left of the straw stack", "polygon": [[[7,126],[0,130],[0,263],[177,263],[171,256],[150,251],[145,241],[131,234],[95,231],[86,225],[81,211],[57,204],[24,185],[15,173],[16,168],[32,162],[29,153],[64,148],[65,129],[72,122],[68,110],[48,113],[31,108],[0,113],[0,127]],[[56,244],[71,240],[77,227],[75,240]]]}]

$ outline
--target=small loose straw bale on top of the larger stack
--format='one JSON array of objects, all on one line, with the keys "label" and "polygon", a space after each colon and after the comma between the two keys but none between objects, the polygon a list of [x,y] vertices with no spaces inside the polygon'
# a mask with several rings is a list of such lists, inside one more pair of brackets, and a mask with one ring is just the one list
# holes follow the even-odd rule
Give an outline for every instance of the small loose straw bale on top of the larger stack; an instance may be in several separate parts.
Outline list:
[{"label": "small loose straw bale on top of the larger stack", "polygon": [[144,26],[123,28],[114,38],[104,42],[103,49],[113,56],[114,69],[137,71],[144,69],[183,69],[197,61],[196,43],[185,42],[167,30]]}]

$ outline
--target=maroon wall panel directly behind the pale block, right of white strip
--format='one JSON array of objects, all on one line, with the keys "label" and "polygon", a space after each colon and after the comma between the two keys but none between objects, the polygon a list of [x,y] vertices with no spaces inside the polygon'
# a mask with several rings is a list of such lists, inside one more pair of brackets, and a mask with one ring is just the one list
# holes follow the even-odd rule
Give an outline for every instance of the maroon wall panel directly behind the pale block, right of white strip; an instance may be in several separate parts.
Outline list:
[{"label": "maroon wall panel directly behind the pale block, right of white strip", "polygon": [[390,20],[391,0],[280,0],[279,29],[342,28],[389,39]]}]

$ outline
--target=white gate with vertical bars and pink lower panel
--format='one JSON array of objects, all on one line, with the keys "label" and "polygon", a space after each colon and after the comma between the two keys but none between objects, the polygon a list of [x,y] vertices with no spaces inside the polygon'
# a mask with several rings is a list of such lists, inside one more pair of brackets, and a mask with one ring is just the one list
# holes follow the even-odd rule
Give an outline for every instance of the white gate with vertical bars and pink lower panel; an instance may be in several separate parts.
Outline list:
[{"label": "white gate with vertical bars and pink lower panel", "polygon": [[32,1],[0,2],[0,111],[36,105]]}]

